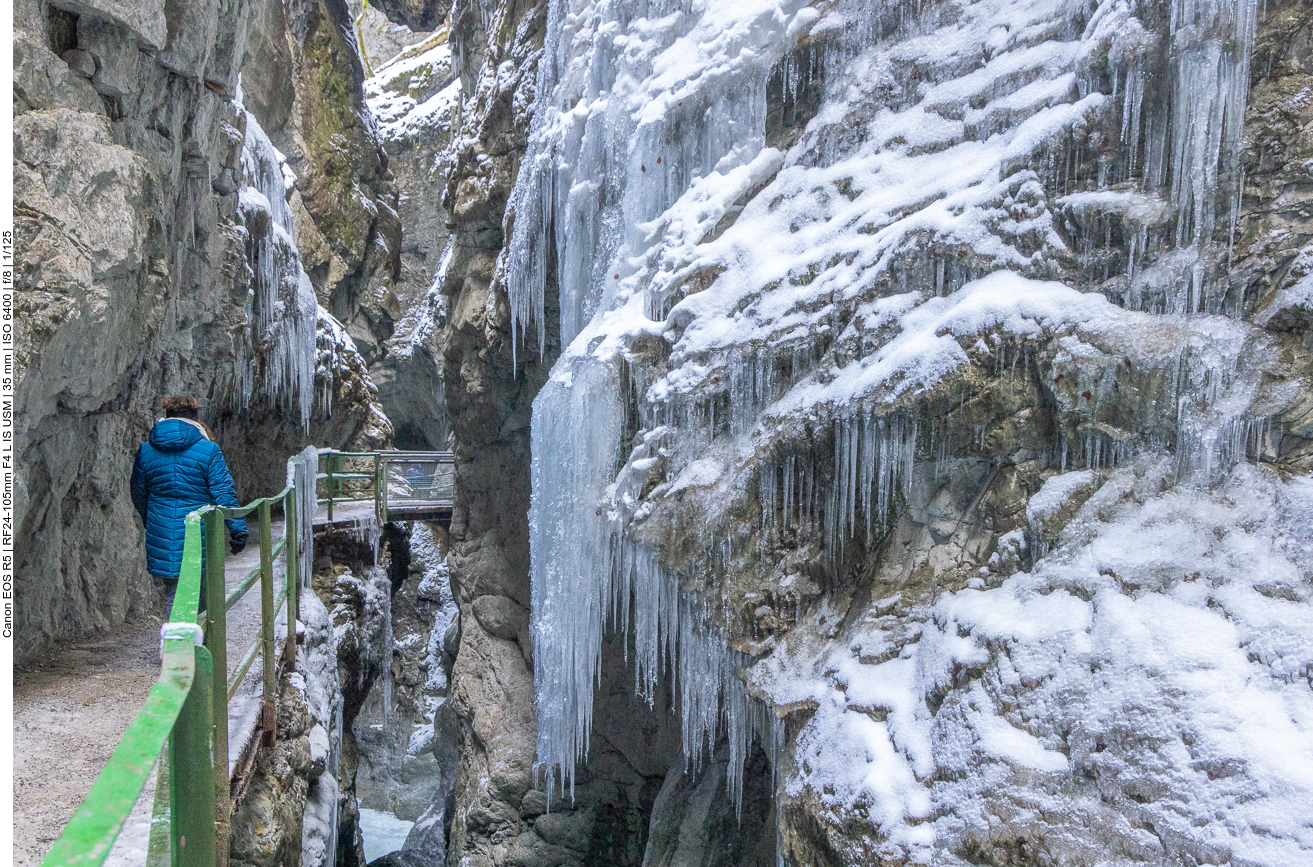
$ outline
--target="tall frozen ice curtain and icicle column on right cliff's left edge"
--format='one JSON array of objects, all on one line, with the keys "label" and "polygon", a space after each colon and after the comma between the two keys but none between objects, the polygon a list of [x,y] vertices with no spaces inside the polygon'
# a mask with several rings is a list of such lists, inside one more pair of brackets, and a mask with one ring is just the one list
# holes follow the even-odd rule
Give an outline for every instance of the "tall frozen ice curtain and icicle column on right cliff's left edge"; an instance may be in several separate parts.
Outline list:
[{"label": "tall frozen ice curtain and icicle column on right cliff's left edge", "polygon": [[[530,510],[538,761],[572,786],[587,754],[592,687],[608,620],[628,628],[630,599],[641,692],[675,671],[685,755],[699,762],[729,729],[730,787],[759,725],[733,659],[695,623],[678,578],[624,537],[607,486],[621,457],[625,409],[616,355],[590,357],[590,323],[638,305],[621,282],[660,217],[697,177],[751,163],[763,147],[765,81],[783,35],[814,20],[804,4],[553,3],[529,155],[516,189],[509,248],[512,323],[544,342],[546,244],[554,244],[562,343],[575,342],[534,401]],[[709,47],[716,81],[689,81]],[[655,97],[655,99],[654,99]],[[687,108],[684,102],[688,102]],[[570,110],[575,104],[588,110]],[[635,106],[642,108],[635,110]],[[651,162],[649,168],[647,162]],[[578,338],[578,339],[576,339]],[[614,349],[614,347],[612,347]]]}]

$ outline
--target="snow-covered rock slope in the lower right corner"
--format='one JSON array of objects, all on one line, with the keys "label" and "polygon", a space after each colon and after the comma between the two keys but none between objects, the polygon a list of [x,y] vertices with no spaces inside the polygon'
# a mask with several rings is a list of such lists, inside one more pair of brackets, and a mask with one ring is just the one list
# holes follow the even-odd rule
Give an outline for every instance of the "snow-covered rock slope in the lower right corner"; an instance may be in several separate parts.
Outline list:
[{"label": "snow-covered rock slope in the lower right corner", "polygon": [[1062,863],[1308,860],[1313,487],[1239,464],[1163,493],[1171,474],[1152,457],[1112,473],[1031,573],[872,612],[827,648],[786,640],[752,670],[775,700],[815,703],[786,789],[878,829],[846,856],[964,863],[943,850],[998,830]]}]

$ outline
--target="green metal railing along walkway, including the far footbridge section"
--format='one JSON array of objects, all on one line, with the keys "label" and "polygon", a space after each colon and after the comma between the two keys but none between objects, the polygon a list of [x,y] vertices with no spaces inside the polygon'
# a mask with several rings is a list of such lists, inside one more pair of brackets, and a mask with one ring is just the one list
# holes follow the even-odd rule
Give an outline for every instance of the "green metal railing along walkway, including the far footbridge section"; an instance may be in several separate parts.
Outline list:
[{"label": "green metal railing along walkway, including the far footbridge section", "polygon": [[[324,460],[326,473],[318,465],[289,461],[289,477],[309,482],[310,490],[289,485],[273,497],[256,499],[242,507],[205,506],[185,519],[183,569],[169,613],[172,632],[161,642],[163,665],[159,680],[151,688],[146,704],[129,725],[109,765],[92,786],[91,793],[74,813],[72,821],[55,841],[42,867],[97,867],[109,854],[114,838],[121,832],[133,805],[140,795],[155,758],[161,754],[165,741],[167,761],[161,761],[155,817],[160,828],[152,825],[152,843],[148,863],[168,859],[171,864],[186,867],[226,867],[228,858],[230,814],[232,792],[238,782],[230,775],[228,762],[228,699],[261,656],[264,663],[261,695],[261,738],[248,745],[248,761],[255,755],[257,741],[265,745],[274,740],[278,671],[295,665],[297,604],[295,594],[309,575],[299,574],[299,557],[305,554],[299,522],[314,522],[314,514],[301,515],[299,503],[328,506],[332,520],[334,504],[374,502],[374,514],[387,520],[390,504],[397,508],[416,507],[450,508],[454,491],[454,456],[450,452],[343,452],[337,449],[307,449],[293,458],[301,461],[318,455]],[[369,458],[373,472],[344,473],[344,460]],[[410,465],[408,470],[403,469]],[[302,469],[302,466],[305,469]],[[305,470],[310,470],[309,477]],[[407,477],[407,472],[418,478]],[[326,482],[327,500],[318,498],[319,482]],[[368,493],[343,491],[343,482],[369,482]],[[400,490],[389,493],[397,483]],[[364,485],[349,485],[360,489]],[[301,498],[306,499],[301,499]],[[423,498],[423,499],[420,499]],[[272,539],[272,510],[278,508],[285,518],[282,537]],[[226,587],[225,519],[256,515],[260,545],[260,566],[248,573],[234,589]],[[302,527],[309,535],[310,527]],[[202,561],[202,539],[206,557]],[[274,590],[273,558],[282,554],[288,564],[282,579]],[[202,574],[204,573],[204,574]],[[204,616],[198,617],[201,585],[205,585]],[[260,581],[261,617],[259,638],[243,658],[232,682],[227,677],[227,612]],[[277,600],[273,600],[274,594]],[[277,642],[284,637],[277,632],[277,616],[286,610],[286,636],[282,653]],[[194,634],[193,624],[200,623],[205,645]],[[247,747],[243,747],[246,754]],[[167,779],[165,779],[167,778]],[[165,843],[167,854],[165,854]]]}]

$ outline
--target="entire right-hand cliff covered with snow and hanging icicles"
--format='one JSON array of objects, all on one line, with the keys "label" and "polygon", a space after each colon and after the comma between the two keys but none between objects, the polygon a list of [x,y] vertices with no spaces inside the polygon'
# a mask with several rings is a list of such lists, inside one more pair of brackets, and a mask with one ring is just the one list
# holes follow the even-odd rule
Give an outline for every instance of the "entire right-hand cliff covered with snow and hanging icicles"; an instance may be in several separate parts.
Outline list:
[{"label": "entire right-hand cliff covered with snow and hanging icicles", "polygon": [[1309,22],[1230,8],[562,4],[528,151],[541,12],[453,9],[453,860],[1308,856],[1221,696],[1310,719]]}]

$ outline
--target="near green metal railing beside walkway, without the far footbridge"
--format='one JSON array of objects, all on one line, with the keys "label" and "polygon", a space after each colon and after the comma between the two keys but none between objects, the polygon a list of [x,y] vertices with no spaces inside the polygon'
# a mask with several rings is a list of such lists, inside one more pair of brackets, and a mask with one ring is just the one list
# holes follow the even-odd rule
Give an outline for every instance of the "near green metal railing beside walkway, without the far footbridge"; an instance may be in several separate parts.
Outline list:
[{"label": "near green metal railing beside walkway, without the far footbridge", "polygon": [[[259,740],[272,746],[277,733],[276,617],[286,600],[284,663],[294,665],[301,567],[309,562],[310,533],[306,531],[314,520],[312,514],[305,514],[307,504],[314,508],[314,491],[302,490],[314,483],[312,473],[294,472],[294,464],[307,460],[307,452],[289,461],[293,481],[273,497],[242,508],[206,506],[186,516],[173,608],[160,629],[160,678],[42,867],[104,863],[156,758],[163,759],[158,793],[167,788],[168,799],[156,797],[148,862],[164,862],[165,855],[158,849],[167,842],[171,864],[227,864],[234,783],[228,774],[228,700],[255,657],[261,656]],[[282,510],[285,519],[277,545],[272,539],[274,507]],[[227,592],[223,520],[251,515],[255,515],[260,564]],[[278,554],[286,560],[286,581],[280,582],[274,599],[273,562]],[[260,633],[234,677],[228,678],[227,612],[256,582],[260,585]],[[198,612],[202,586],[205,611]],[[168,751],[161,755],[165,742]],[[167,838],[155,832],[161,822],[169,829]]]}]

